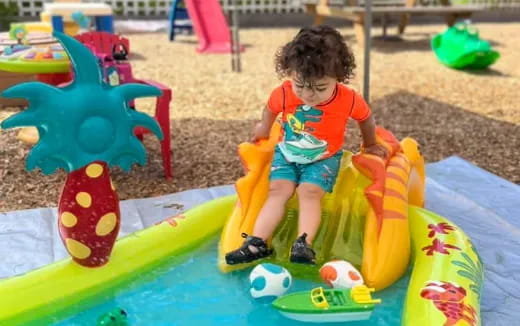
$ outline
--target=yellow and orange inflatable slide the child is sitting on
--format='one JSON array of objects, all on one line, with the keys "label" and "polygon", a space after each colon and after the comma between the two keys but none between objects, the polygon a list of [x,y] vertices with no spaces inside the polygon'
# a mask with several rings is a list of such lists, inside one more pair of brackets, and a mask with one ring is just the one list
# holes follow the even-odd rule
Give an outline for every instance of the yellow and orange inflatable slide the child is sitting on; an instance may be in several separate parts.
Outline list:
[{"label": "yellow and orange inflatable slide the child is sitting on", "polygon": [[[253,231],[258,212],[267,198],[270,160],[279,129],[279,125],[275,125],[268,141],[239,147],[248,174],[237,181],[239,202],[222,232],[219,266],[224,272],[247,266],[227,265],[224,255],[240,247],[242,233]],[[408,266],[408,203],[422,205],[424,202],[424,160],[414,140],[399,143],[390,132],[382,128],[377,132],[379,142],[391,155],[383,161],[373,155],[352,156],[344,152],[334,191],[322,202],[322,223],[313,247],[318,253],[318,266],[332,259],[348,260],[362,267],[367,285],[380,290],[394,283]],[[275,252],[272,260],[286,265],[296,275],[317,275],[312,267],[287,264],[289,248],[298,229],[297,210],[295,196],[287,205],[286,218],[271,239]]]}]

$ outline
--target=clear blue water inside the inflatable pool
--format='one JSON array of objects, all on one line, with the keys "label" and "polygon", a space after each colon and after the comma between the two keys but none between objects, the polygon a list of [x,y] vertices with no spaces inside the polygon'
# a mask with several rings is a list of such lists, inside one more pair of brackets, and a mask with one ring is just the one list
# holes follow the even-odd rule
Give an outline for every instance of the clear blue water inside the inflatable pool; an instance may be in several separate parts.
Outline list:
[{"label": "clear blue water inside the inflatable pool", "polygon": [[[180,264],[157,269],[150,281],[121,288],[106,302],[85,310],[54,326],[93,326],[98,317],[114,308],[128,314],[132,326],[173,325],[306,325],[286,319],[269,303],[249,294],[250,269],[222,274],[217,268],[217,239],[209,241]],[[378,292],[383,299],[368,321],[351,326],[395,326],[400,324],[408,278],[391,289]],[[293,280],[289,292],[310,290],[323,284]],[[307,324],[308,325],[308,324]]]}]

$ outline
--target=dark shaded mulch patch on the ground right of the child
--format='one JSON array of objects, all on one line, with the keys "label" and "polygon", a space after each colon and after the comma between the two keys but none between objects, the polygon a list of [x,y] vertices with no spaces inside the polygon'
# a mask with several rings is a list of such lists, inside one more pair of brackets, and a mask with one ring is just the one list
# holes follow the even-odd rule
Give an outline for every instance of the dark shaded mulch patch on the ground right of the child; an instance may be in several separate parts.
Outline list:
[{"label": "dark shaded mulch patch on the ground right of the child", "polygon": [[520,125],[398,92],[372,103],[378,124],[421,144],[427,162],[460,156],[520,184]]}]

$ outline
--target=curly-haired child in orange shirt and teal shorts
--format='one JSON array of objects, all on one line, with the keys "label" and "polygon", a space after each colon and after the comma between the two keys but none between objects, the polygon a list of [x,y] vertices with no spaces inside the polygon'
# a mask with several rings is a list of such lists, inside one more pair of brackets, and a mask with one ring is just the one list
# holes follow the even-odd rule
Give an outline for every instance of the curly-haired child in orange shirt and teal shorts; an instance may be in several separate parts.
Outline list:
[{"label": "curly-haired child in orange shirt and teal shorts", "polygon": [[299,237],[291,248],[291,262],[315,263],[312,240],[318,231],[321,198],[331,192],[342,156],[348,119],[358,121],[365,153],[386,156],[376,143],[375,122],[363,98],[344,86],[353,75],[354,56],[343,38],[329,26],[303,28],[276,54],[276,71],[288,78],[272,93],[253,140],[269,137],[282,114],[283,139],[275,148],[269,195],[252,236],[226,254],[228,264],[269,256],[267,239],[280,223],[285,203],[296,190],[299,200]]}]

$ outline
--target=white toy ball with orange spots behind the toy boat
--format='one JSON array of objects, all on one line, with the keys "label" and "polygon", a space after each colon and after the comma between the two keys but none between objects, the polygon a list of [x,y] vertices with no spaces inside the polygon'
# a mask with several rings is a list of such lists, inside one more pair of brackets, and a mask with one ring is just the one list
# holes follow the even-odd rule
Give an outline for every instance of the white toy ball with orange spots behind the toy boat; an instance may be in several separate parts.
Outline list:
[{"label": "white toy ball with orange spots behind the toy boat", "polygon": [[333,260],[320,268],[320,276],[329,286],[335,289],[351,289],[363,284],[361,273],[344,260]]}]

